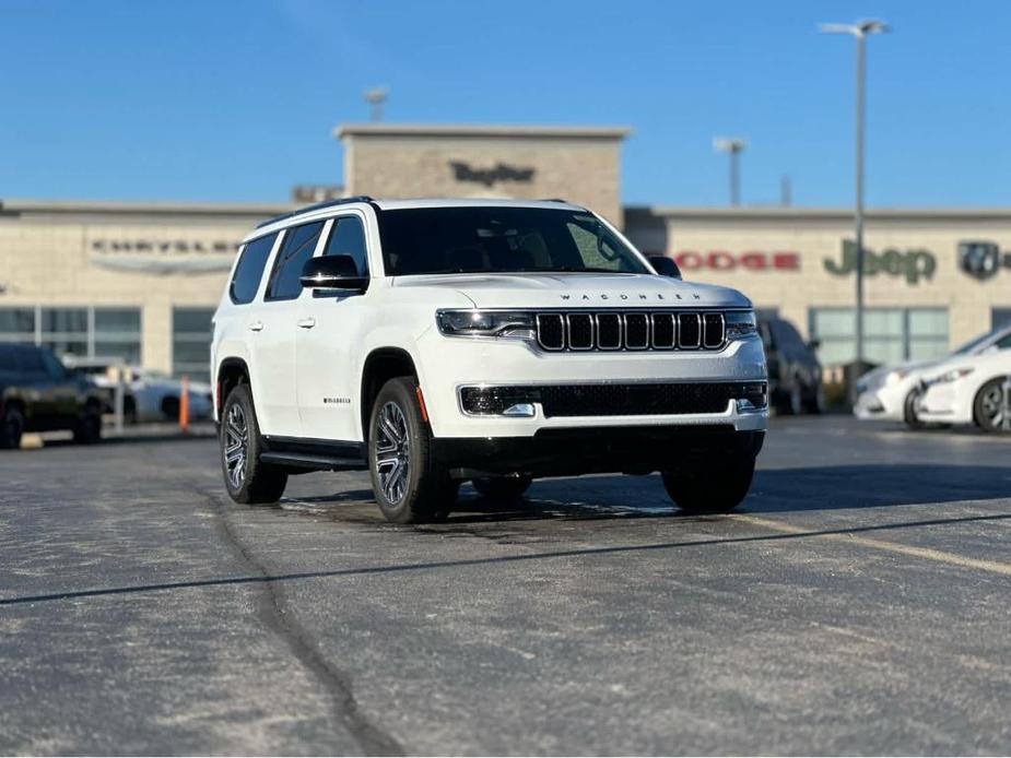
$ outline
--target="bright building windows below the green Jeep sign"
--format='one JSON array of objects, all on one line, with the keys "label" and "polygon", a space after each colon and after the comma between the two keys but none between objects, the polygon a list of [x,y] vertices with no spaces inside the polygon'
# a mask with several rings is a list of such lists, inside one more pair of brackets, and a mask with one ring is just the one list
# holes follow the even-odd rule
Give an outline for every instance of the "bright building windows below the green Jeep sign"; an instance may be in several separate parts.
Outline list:
[{"label": "bright building windows below the green Jeep sign", "polygon": [[[856,317],[853,308],[812,308],[809,333],[821,342],[819,360],[825,366],[856,359]],[[948,310],[944,308],[867,308],[863,352],[873,364],[938,358],[949,353]]]}]

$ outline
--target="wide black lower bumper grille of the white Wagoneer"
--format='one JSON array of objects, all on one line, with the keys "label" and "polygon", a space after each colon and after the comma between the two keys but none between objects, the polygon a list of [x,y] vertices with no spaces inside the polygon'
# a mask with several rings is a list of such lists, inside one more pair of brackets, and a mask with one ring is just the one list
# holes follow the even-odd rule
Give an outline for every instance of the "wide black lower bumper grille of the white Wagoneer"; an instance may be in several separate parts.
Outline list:
[{"label": "wide black lower bumper grille of the white Wagoneer", "polygon": [[463,387],[460,402],[470,415],[499,415],[517,403],[540,403],[544,416],[649,416],[722,413],[731,400],[767,402],[765,382],[656,382]]}]

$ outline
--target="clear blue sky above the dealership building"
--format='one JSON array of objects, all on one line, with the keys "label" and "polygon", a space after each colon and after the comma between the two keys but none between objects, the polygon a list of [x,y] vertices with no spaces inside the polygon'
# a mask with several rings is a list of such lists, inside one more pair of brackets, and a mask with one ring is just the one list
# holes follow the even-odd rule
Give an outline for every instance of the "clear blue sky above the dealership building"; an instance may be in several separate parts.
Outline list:
[{"label": "clear blue sky above the dealership building", "polygon": [[870,40],[868,203],[1011,204],[1007,2],[0,0],[0,198],[284,201],[338,182],[334,125],[626,125],[631,203],[853,197],[854,43]]}]

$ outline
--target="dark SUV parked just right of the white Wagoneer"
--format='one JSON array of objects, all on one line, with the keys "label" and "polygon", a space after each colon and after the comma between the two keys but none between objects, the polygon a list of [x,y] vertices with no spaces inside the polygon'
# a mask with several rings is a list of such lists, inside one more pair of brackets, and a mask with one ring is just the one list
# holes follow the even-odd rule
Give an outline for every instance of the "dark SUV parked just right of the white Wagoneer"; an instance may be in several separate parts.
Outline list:
[{"label": "dark SUV parked just right of the white Wagoneer", "polygon": [[779,413],[799,415],[825,408],[822,366],[815,342],[803,337],[786,319],[760,318],[759,333],[768,364],[769,404]]}]

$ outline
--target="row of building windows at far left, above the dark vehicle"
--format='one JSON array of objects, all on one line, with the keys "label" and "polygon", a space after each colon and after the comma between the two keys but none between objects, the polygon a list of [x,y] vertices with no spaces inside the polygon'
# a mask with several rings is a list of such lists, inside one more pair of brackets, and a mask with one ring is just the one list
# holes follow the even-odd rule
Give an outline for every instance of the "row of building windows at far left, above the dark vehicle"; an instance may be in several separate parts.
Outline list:
[{"label": "row of building windows at far left, above the dark vehicle", "polygon": [[141,359],[140,308],[0,308],[0,342],[49,347],[60,357]]}]

